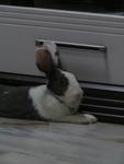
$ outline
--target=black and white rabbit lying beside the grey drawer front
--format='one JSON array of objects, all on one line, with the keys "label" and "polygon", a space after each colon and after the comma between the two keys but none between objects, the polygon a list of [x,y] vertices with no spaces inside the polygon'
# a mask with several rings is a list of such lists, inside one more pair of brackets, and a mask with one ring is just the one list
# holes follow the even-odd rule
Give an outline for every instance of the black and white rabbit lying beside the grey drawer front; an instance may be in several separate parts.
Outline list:
[{"label": "black and white rabbit lying beside the grey drawer front", "polygon": [[[57,46],[45,42],[40,48],[52,57],[50,69],[44,70],[47,83],[33,87],[0,87],[0,116],[74,124],[95,122],[97,118],[92,115],[77,114],[83,92],[75,75],[63,70]],[[38,61],[36,65],[41,70]]]}]

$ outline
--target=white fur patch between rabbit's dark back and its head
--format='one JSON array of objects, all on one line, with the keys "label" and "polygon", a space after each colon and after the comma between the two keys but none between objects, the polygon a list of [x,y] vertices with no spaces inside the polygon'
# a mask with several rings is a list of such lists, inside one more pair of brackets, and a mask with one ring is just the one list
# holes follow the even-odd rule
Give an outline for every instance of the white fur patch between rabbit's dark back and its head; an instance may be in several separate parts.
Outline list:
[{"label": "white fur patch between rabbit's dark back and its head", "polygon": [[49,94],[46,85],[30,90],[30,97],[38,114],[47,119],[57,119],[69,114],[69,108]]}]

